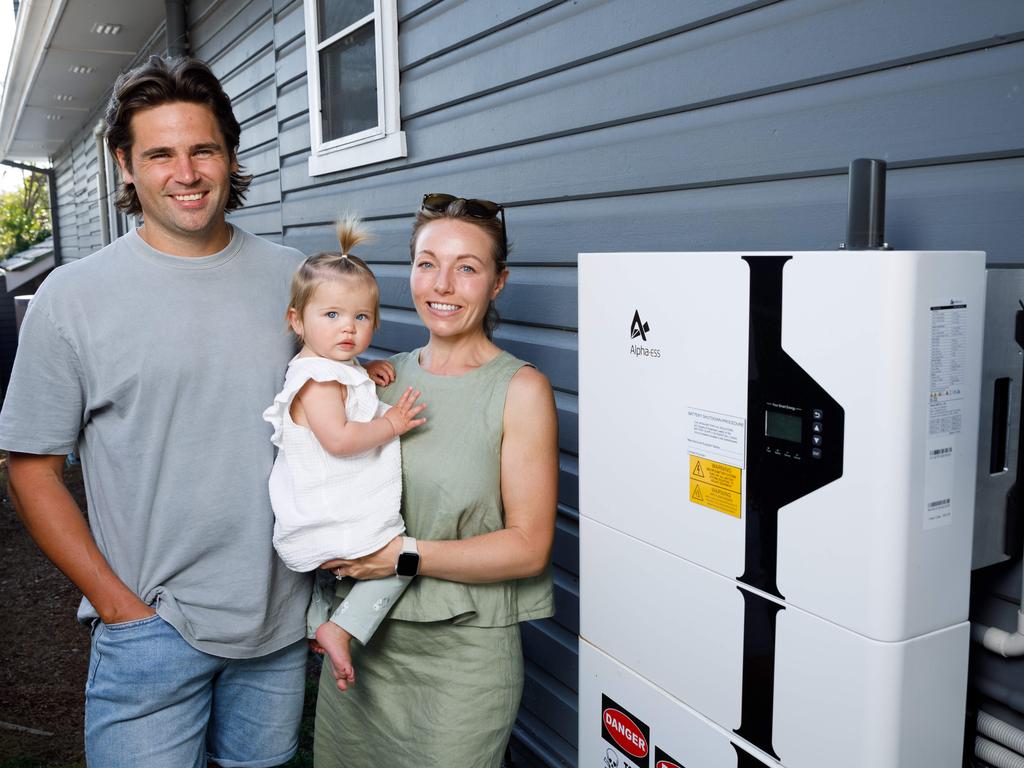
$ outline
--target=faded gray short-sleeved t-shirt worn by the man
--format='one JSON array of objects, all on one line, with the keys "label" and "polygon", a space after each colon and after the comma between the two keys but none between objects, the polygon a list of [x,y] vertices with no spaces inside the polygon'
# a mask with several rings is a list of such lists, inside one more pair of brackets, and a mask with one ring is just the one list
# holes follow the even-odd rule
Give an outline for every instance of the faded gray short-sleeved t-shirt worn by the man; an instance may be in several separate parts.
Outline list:
[{"label": "faded gray short-sleeved t-shirt worn by the man", "polygon": [[[29,307],[0,447],[82,458],[89,526],[114,571],[200,650],[305,636],[308,574],[271,546],[270,427],[294,349],[302,254],[233,227],[169,256],[132,231],[53,271]],[[95,617],[82,601],[79,617]]]}]

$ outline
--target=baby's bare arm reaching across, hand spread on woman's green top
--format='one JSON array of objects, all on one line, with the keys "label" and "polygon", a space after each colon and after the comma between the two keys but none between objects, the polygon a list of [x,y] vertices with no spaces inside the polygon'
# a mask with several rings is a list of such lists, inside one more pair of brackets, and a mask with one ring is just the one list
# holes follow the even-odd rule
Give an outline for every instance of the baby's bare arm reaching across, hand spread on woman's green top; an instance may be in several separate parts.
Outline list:
[{"label": "baby's bare arm reaching across, hand spread on woman's green top", "polygon": [[426,404],[416,404],[419,392],[410,387],[384,416],[369,422],[345,416],[345,388],[336,381],[307,381],[292,400],[292,420],[309,427],[324,450],[334,456],[354,456],[383,445],[424,424],[416,417]]}]

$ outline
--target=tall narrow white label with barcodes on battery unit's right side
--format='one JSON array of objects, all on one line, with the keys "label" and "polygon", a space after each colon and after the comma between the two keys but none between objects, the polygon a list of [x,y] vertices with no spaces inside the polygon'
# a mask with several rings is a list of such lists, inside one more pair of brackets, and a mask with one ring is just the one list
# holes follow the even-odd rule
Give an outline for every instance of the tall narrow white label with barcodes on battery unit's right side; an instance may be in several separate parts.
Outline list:
[{"label": "tall narrow white label with barcodes on battery unit's right side", "polygon": [[967,303],[931,307],[929,353],[928,456],[925,459],[925,529],[953,521],[953,469],[956,435],[964,422],[967,365]]}]

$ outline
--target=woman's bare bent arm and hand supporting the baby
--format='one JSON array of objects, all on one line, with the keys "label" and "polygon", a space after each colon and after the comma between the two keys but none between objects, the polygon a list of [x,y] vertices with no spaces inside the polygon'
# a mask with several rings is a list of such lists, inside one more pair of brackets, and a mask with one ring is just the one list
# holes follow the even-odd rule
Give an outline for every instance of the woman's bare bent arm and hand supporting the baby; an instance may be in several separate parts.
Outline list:
[{"label": "woman's bare bent arm and hand supporting the baby", "polygon": [[[502,502],[505,527],[458,541],[419,541],[420,573],[452,582],[484,584],[541,573],[551,556],[558,501],[558,421],[551,385],[536,369],[512,377],[505,400]],[[356,560],[323,567],[340,575],[391,575],[400,537]]]}]

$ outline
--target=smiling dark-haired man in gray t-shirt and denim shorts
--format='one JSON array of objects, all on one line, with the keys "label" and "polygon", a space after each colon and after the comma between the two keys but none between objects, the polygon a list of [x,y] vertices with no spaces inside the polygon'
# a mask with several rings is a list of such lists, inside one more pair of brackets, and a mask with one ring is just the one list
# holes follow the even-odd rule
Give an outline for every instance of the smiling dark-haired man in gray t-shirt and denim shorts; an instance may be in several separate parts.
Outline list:
[{"label": "smiling dark-haired man in gray t-shirt and denim shorts", "polygon": [[[191,59],[123,75],[106,141],[142,225],[32,301],[0,414],[11,497],[92,624],[91,768],[258,768],[295,751],[307,577],[271,546],[261,413],[291,339],[297,251],[224,219],[251,177],[217,79]],[[82,458],[88,524],[62,482]]]}]

